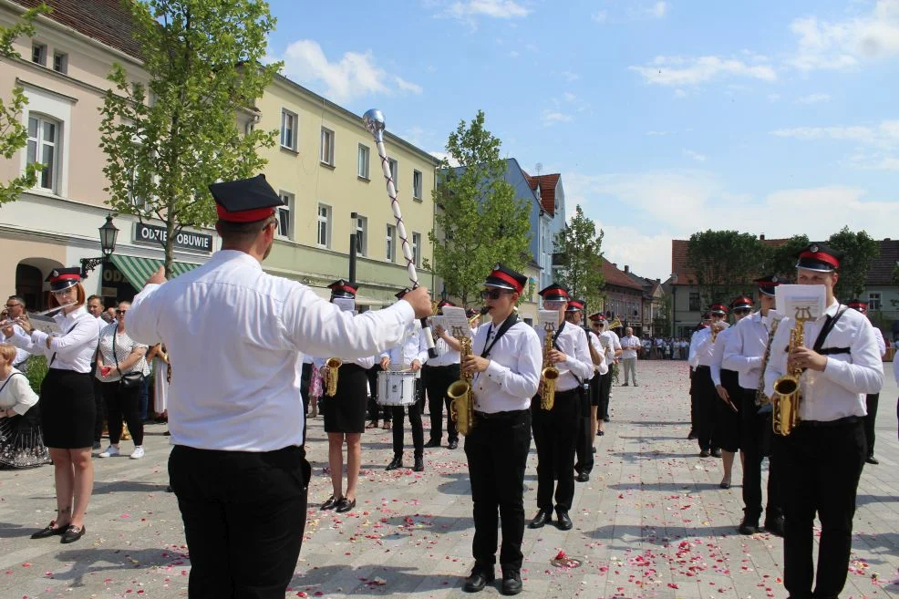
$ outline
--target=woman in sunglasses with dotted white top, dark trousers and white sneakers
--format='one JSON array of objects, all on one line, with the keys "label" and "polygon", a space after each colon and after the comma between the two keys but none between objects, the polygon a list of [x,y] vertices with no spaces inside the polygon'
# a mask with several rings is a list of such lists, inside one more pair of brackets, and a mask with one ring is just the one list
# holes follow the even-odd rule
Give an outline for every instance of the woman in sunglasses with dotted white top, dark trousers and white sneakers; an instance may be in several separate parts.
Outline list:
[{"label": "woman in sunglasses with dotted white top, dark trousers and white sneakers", "polygon": [[119,455],[122,419],[128,423],[131,439],[134,440],[131,460],[140,460],[144,456],[143,420],[138,413],[142,379],[135,375],[147,377],[150,367],[145,358],[148,347],[135,342],[125,331],[125,315],[130,307],[130,302],[119,302],[116,320],[100,333],[97,347],[97,379],[109,418],[109,447],[98,458]]}]

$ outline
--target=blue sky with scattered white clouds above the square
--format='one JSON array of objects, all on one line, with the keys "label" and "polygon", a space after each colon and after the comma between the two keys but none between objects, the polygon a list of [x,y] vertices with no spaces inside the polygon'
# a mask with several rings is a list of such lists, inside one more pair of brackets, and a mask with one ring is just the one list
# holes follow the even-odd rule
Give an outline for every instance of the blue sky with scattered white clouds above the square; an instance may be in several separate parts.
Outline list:
[{"label": "blue sky with scattered white clouds above the square", "polygon": [[477,110],[619,266],[739,229],[899,237],[899,0],[271,0],[284,74],[432,152]]}]

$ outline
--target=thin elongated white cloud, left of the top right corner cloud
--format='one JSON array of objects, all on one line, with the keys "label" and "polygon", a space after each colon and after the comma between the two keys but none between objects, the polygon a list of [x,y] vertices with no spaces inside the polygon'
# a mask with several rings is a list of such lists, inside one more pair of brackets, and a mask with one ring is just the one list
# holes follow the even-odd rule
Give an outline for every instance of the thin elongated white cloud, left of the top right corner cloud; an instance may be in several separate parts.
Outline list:
[{"label": "thin elongated white cloud, left of the top right corner cloud", "polygon": [[770,65],[749,65],[737,58],[656,57],[642,67],[628,67],[646,80],[662,86],[695,86],[717,77],[749,77],[775,81],[777,73]]}]

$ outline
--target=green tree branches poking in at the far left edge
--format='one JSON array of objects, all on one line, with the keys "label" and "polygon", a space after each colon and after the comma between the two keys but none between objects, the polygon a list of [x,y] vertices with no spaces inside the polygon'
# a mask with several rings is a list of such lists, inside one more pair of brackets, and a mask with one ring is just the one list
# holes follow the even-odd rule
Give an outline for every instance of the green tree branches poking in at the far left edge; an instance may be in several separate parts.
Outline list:
[{"label": "green tree branches poking in at the far left edge", "polygon": [[[26,10],[15,25],[0,27],[0,59],[5,62],[20,60],[22,57],[13,47],[15,39],[19,36],[34,36],[37,16],[50,11],[49,6],[41,3]],[[13,88],[13,97],[8,102],[0,98],[0,156],[5,160],[12,160],[15,152],[25,148],[28,142],[28,128],[20,120],[27,104],[28,98],[21,86]],[[7,201],[15,201],[22,191],[34,187],[37,173],[43,168],[44,165],[40,162],[32,162],[26,166],[24,173],[12,181],[0,182],[0,206]]]}]

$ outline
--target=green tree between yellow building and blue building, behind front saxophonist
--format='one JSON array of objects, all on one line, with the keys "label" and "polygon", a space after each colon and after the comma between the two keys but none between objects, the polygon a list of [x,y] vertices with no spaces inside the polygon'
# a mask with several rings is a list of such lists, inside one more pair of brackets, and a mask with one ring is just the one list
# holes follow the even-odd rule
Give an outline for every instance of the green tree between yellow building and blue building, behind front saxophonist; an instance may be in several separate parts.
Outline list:
[{"label": "green tree between yellow building and blue building, behind front saxophonist", "polygon": [[443,160],[433,192],[439,206],[435,230],[428,235],[434,244],[433,269],[462,305],[474,299],[494,264],[521,272],[530,259],[531,206],[503,178],[500,139],[484,122],[479,110],[470,124],[460,120],[449,134],[448,156],[460,166],[453,169],[449,159]]}]

